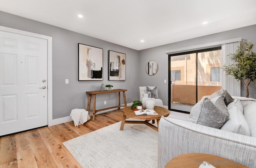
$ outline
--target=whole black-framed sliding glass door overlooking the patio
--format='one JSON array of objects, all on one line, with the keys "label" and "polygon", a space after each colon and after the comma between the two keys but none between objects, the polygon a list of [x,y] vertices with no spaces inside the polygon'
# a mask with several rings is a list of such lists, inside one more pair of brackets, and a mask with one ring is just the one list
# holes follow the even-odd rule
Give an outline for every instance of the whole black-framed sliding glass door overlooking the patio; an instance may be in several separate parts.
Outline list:
[{"label": "whole black-framed sliding glass door overlooking the patio", "polygon": [[169,109],[189,113],[221,88],[221,48],[169,55]]}]

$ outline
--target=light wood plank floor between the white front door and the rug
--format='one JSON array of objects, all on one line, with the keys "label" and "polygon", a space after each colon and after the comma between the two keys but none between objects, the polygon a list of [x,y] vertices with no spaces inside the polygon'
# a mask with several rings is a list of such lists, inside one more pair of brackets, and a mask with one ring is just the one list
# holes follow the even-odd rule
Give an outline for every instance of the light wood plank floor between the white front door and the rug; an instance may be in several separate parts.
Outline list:
[{"label": "light wood plank floor between the white front door and the rug", "polygon": [[62,142],[122,120],[121,111],[96,115],[74,127],[73,121],[0,138],[0,168],[80,168]]}]

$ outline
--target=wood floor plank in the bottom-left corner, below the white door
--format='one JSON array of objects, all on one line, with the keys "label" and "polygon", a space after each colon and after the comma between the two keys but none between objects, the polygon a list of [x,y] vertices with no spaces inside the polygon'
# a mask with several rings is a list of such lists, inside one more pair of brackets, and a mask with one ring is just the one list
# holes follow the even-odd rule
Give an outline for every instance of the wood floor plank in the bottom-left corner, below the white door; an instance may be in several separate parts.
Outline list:
[{"label": "wood floor plank in the bottom-left corner, below the white door", "polygon": [[18,167],[16,141],[14,135],[2,137],[0,150],[0,167],[15,168]]}]

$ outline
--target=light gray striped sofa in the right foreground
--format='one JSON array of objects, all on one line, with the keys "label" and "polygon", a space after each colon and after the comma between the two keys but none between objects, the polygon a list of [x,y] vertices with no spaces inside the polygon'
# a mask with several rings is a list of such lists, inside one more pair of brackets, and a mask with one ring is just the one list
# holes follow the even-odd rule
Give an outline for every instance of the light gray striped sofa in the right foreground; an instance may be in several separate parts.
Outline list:
[{"label": "light gray striped sofa in the right foreground", "polygon": [[[256,168],[256,100],[232,97],[234,102],[227,106],[230,117],[221,129],[162,117],[158,127],[158,168],[184,153],[213,154]],[[239,117],[241,114],[245,120]],[[233,123],[234,118],[238,123]]]}]

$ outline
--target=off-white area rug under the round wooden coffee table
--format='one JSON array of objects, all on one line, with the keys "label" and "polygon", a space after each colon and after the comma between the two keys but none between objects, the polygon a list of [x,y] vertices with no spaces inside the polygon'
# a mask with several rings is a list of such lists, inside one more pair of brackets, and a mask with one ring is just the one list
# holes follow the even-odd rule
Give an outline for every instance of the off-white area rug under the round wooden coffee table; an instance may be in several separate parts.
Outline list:
[{"label": "off-white area rug under the round wooden coffee table", "polygon": [[63,144],[83,168],[157,168],[158,132],[145,124],[124,124],[119,131],[120,125]]}]

